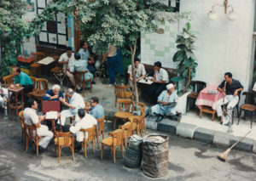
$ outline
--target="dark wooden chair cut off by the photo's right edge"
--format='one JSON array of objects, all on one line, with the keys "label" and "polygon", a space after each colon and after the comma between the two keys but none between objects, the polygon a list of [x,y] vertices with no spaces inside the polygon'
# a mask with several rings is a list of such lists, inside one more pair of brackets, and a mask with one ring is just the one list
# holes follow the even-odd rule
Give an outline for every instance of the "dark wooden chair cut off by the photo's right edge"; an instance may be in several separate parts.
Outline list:
[{"label": "dark wooden chair cut off by the photo's right edge", "polygon": [[241,110],[244,111],[244,116],[246,117],[246,113],[250,115],[251,119],[251,128],[253,127],[253,113],[256,110],[256,92],[243,92],[242,95],[246,96],[244,104],[240,106],[240,114],[238,118],[237,125],[240,122]]}]

